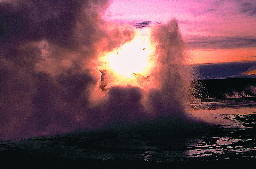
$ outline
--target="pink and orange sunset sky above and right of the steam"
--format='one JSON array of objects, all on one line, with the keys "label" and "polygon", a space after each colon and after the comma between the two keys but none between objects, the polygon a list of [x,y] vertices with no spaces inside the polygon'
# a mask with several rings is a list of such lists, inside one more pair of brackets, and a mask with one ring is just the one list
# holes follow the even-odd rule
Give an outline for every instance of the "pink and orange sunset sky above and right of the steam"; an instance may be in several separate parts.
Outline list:
[{"label": "pink and orange sunset sky above and right of the steam", "polygon": [[114,0],[105,17],[130,24],[176,18],[191,57],[186,63],[256,60],[255,1]]}]

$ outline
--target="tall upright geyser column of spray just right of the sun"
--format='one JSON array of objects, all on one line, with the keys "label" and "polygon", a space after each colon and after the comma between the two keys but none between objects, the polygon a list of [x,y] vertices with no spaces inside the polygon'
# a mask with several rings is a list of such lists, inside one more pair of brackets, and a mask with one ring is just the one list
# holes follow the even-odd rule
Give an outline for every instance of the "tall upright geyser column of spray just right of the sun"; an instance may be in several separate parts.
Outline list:
[{"label": "tall upright geyser column of spray just right of the sun", "polygon": [[151,73],[153,86],[148,92],[148,103],[159,116],[180,116],[187,112],[189,73],[183,64],[183,41],[177,21],[156,25],[151,30],[155,51],[155,68]]}]

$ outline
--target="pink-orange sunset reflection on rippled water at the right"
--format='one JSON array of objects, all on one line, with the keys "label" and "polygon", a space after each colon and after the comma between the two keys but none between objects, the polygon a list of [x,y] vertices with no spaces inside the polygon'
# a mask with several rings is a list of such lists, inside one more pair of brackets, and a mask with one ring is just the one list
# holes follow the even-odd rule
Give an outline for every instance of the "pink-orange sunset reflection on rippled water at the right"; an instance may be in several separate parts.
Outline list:
[{"label": "pink-orange sunset reflection on rippled water at the right", "polygon": [[255,158],[255,104],[254,100],[221,100],[220,98],[190,103],[191,114],[208,122],[215,129],[206,133],[201,142],[188,147],[191,150],[185,155],[187,157],[212,155],[214,159]]}]

